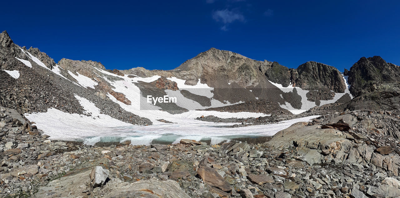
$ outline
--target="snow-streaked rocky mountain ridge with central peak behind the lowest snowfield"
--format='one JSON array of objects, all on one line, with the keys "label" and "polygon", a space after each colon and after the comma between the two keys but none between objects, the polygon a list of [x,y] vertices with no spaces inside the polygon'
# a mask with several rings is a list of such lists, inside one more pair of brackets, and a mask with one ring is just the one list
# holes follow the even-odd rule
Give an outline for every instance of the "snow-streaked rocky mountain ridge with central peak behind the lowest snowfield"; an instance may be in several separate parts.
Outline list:
[{"label": "snow-streaked rocky mountain ridge with central peak behind the lowest snowfield", "polygon": [[[35,75],[35,78],[29,79],[32,87],[40,91],[46,90],[46,95],[51,97],[49,101],[53,104],[65,104],[32,104],[35,107],[26,107],[28,111],[24,111],[28,113],[46,111],[52,107],[68,113],[84,114],[82,108],[66,108],[72,107],[72,104],[78,105],[78,99],[73,96],[79,95],[115,119],[122,118],[128,123],[150,125],[157,119],[146,120],[147,118],[141,118],[144,114],[140,113],[141,108],[155,108],[143,102],[147,95],[169,94],[178,97],[180,102],[176,104],[156,104],[156,109],[172,114],[196,109],[218,109],[234,104],[236,105],[228,108],[228,111],[260,109],[264,103],[254,102],[258,100],[273,101],[263,108],[264,114],[276,113],[277,109],[284,114],[289,111],[301,113],[312,107],[337,101],[345,95],[347,100],[350,99],[348,93],[345,93],[347,86],[340,72],[332,66],[313,61],[304,63],[297,69],[289,69],[277,62],[256,61],[238,53],[211,48],[185,61],[176,69],[163,71],[136,67],[119,71],[107,70],[104,65],[95,61],[63,58],[55,63],[37,48],[20,48],[12,42],[7,32],[1,34],[1,44],[2,69],[20,73],[16,80],[8,76],[6,79],[10,83],[23,83],[28,80],[26,75]],[[42,88],[43,82],[36,81],[37,79],[48,80],[49,84]],[[174,81],[178,83],[178,88],[169,90],[156,87],[151,83],[156,79],[162,80],[164,84],[168,83],[166,81]],[[118,87],[128,81],[133,83],[132,89],[136,90],[136,95],[132,95],[132,90],[128,90],[130,88]],[[34,89],[32,87],[30,88]],[[32,92],[35,93],[36,90]],[[61,92],[63,97],[58,97]],[[130,107],[118,105],[111,97]],[[239,105],[240,103],[246,105]],[[220,108],[219,111],[225,110]]]}]

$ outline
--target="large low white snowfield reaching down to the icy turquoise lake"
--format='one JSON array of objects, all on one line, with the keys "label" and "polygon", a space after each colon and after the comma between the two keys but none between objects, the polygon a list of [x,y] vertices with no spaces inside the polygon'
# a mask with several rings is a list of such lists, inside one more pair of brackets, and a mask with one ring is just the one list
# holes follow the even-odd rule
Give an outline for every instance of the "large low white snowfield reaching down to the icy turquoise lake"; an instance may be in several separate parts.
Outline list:
[{"label": "large low white snowfield reaching down to the icy turquoise lake", "polygon": [[[108,115],[100,113],[92,102],[75,95],[85,113],[92,116],[69,114],[57,109],[48,109],[46,113],[32,113],[25,116],[36,122],[36,126],[50,135],[50,139],[64,141],[84,141],[94,145],[99,141],[130,140],[131,144],[149,145],[153,140],[177,143],[180,139],[210,139],[212,144],[229,141],[239,136],[272,136],[282,129],[297,122],[310,121],[319,117],[309,116],[270,125],[227,128],[234,123],[210,123],[194,119],[186,119],[186,123],[157,124],[138,126],[124,123]],[[49,124],[51,123],[51,124]]]}]

